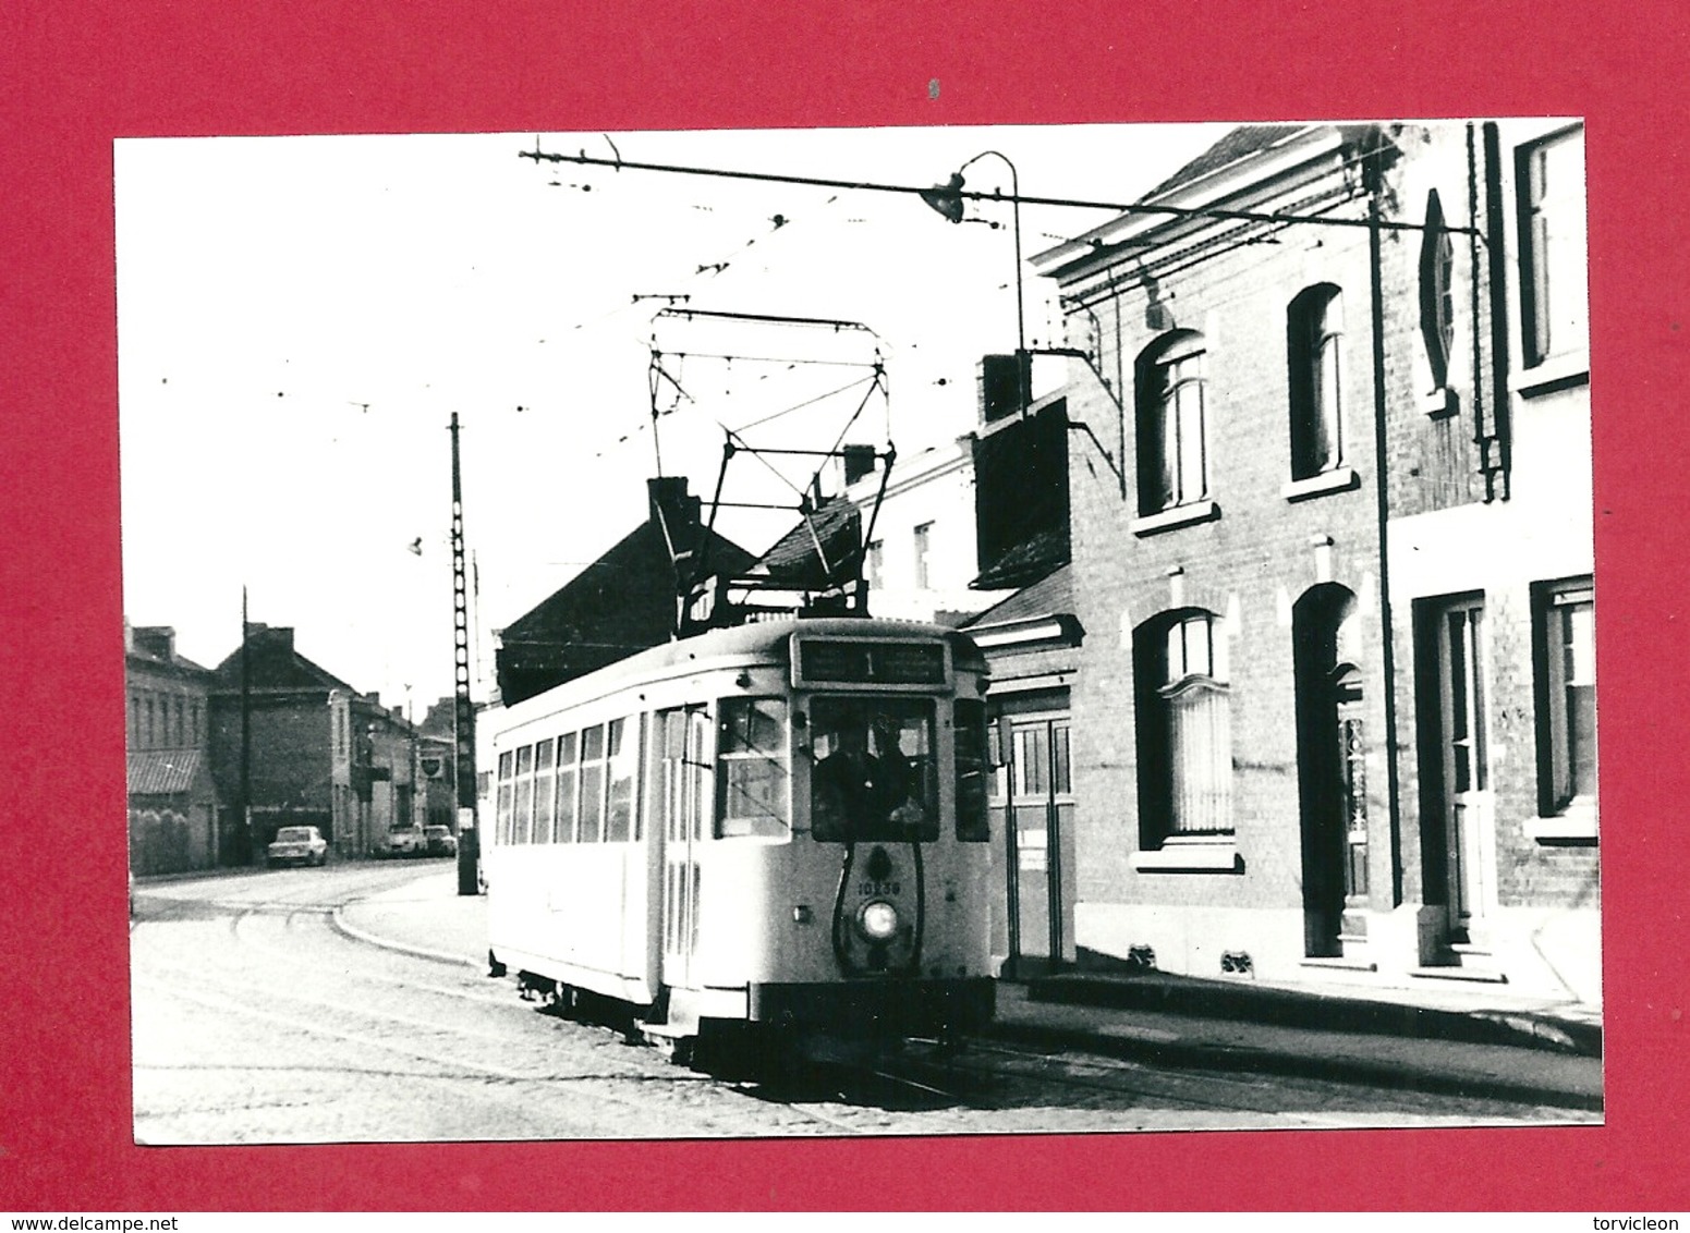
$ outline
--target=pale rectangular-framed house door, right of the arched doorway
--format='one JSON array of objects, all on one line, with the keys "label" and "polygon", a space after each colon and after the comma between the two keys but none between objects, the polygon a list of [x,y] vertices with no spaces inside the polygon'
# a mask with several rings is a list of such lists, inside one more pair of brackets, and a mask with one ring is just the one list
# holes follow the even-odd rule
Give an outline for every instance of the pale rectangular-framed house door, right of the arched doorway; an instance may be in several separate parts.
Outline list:
[{"label": "pale rectangular-framed house door, right of the arched doorway", "polygon": [[1435,731],[1426,750],[1435,796],[1423,824],[1435,828],[1425,836],[1431,839],[1428,853],[1442,855],[1442,861],[1428,860],[1426,890],[1428,902],[1442,897],[1447,904],[1452,941],[1465,942],[1494,897],[1484,600],[1438,605],[1423,630],[1435,687]]}]

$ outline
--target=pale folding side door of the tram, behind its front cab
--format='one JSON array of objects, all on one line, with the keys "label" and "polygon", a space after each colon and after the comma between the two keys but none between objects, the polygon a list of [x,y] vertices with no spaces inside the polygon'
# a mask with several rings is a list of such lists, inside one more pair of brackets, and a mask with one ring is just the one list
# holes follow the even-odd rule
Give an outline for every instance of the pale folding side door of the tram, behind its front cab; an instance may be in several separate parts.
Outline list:
[{"label": "pale folding side door of the tram, behind its front cab", "polygon": [[662,740],[662,983],[691,986],[698,946],[698,845],[715,802],[715,730],[701,706],[659,716]]}]

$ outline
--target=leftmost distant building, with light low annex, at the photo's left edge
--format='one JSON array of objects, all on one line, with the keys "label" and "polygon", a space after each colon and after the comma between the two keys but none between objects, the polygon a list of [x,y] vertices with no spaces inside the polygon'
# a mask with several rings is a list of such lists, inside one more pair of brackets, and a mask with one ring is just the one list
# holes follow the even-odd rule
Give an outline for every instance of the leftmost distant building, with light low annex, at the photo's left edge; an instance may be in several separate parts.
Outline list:
[{"label": "leftmost distant building, with light low annex, at the photo's left edge", "polygon": [[211,672],[176,654],[167,625],[123,623],[128,706],[128,860],[135,873],[218,863],[210,757]]}]

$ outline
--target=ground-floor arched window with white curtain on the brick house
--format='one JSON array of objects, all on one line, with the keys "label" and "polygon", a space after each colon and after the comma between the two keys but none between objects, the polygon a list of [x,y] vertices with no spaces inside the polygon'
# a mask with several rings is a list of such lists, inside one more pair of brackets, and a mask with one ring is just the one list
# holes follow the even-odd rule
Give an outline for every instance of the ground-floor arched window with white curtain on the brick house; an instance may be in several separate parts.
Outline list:
[{"label": "ground-floor arched window with white curtain on the brick house", "polygon": [[1213,613],[1185,610],[1134,638],[1139,811],[1146,848],[1232,833],[1232,698]]}]

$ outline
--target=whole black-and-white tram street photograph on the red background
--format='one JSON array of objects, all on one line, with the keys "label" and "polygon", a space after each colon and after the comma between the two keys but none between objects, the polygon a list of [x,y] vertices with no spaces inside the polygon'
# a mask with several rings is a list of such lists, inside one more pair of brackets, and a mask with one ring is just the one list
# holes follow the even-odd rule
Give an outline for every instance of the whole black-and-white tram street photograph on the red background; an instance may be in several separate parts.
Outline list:
[{"label": "whole black-and-white tram street photograph on the red background", "polygon": [[1580,118],[112,157],[135,1143],[1604,1122]]}]

